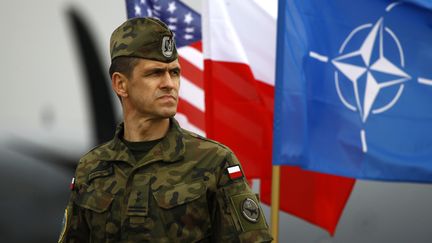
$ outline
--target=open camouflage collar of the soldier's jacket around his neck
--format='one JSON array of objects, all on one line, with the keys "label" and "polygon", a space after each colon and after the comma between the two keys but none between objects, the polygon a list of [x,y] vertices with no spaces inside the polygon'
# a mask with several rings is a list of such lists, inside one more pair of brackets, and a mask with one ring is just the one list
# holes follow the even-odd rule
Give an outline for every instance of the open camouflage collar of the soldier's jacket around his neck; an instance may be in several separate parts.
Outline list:
[{"label": "open camouflage collar of the soldier's jacket around his neck", "polygon": [[[111,152],[101,154],[103,160],[130,161],[134,160],[132,154],[121,137],[124,134],[124,124],[117,126],[114,138],[109,142]],[[185,153],[184,136],[178,122],[170,118],[170,127],[165,137],[154,146],[148,154],[139,161],[139,164],[147,164],[151,161],[176,162],[183,158]]]}]

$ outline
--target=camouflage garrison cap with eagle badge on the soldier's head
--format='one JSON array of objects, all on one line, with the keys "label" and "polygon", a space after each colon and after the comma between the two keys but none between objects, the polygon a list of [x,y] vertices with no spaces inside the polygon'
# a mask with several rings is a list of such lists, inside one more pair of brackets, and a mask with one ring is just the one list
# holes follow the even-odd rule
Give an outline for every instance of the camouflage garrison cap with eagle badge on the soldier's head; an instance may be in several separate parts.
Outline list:
[{"label": "camouflage garrison cap with eagle badge on the soldier's head", "polygon": [[111,61],[116,57],[140,57],[160,62],[177,59],[173,32],[155,18],[128,19],[111,35]]}]

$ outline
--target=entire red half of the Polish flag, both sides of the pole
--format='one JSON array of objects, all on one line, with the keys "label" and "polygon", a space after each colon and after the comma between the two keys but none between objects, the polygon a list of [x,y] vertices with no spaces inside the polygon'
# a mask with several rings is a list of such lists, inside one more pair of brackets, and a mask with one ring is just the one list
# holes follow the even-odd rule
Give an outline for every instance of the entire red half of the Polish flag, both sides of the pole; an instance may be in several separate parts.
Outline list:
[{"label": "entire red half of the Polish flag, both sides of the pole", "polygon": [[[205,60],[206,133],[230,147],[247,178],[261,179],[270,204],[274,88],[256,81],[248,65]],[[354,179],[282,167],[281,209],[333,234]]]}]

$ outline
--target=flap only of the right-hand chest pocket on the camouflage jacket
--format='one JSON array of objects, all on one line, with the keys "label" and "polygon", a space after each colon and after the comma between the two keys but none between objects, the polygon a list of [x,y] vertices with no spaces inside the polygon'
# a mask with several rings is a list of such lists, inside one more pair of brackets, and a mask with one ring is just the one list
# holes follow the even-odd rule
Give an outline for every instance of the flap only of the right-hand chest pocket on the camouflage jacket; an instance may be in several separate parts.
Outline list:
[{"label": "flap only of the right-hand chest pocket on the camouflage jacket", "polygon": [[169,209],[200,198],[206,191],[203,182],[181,183],[153,192],[161,208]]}]

